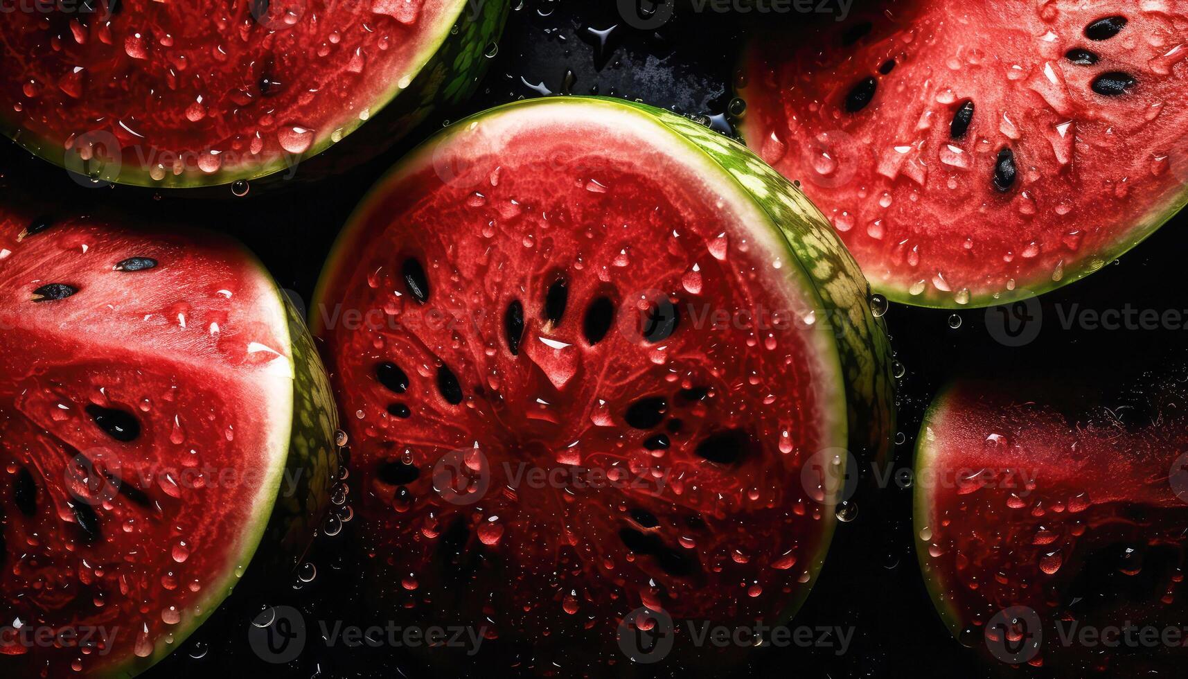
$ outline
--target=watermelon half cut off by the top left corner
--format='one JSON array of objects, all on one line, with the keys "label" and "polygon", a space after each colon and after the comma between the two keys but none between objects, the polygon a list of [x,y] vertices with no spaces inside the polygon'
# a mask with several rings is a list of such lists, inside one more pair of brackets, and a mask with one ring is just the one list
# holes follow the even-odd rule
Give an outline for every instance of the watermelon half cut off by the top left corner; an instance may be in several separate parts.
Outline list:
[{"label": "watermelon half cut off by the top left corner", "polygon": [[82,0],[6,12],[0,131],[95,181],[227,184],[374,155],[474,89],[506,0]]}]

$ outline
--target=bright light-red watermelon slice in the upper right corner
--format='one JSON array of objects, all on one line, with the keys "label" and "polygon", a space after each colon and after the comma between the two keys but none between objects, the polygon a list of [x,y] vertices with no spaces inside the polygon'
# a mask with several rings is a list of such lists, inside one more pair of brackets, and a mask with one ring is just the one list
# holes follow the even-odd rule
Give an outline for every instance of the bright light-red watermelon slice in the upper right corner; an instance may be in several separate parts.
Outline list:
[{"label": "bright light-red watermelon slice in the upper right corner", "polygon": [[1188,7],[893,0],[757,39],[747,143],[872,287],[990,306],[1097,271],[1188,191]]}]

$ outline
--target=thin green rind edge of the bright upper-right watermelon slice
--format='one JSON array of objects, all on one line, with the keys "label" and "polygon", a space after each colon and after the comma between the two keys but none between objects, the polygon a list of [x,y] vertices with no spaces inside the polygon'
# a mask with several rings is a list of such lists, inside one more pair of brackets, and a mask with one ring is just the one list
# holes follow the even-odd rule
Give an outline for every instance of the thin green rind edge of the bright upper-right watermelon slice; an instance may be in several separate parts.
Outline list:
[{"label": "thin green rind edge of the bright upper-right watermelon slice", "polygon": [[[739,73],[747,73],[747,64],[751,61],[751,50],[742,50],[741,58],[739,59]],[[745,90],[746,87],[737,88],[738,96],[745,99]],[[752,125],[747,124],[745,114],[735,127],[744,140],[753,140],[756,138],[753,131],[748,133]],[[1017,279],[1013,290],[1005,288],[997,293],[974,293],[971,290],[969,301],[965,304],[958,303],[953,293],[943,293],[931,287],[928,287],[920,295],[912,295],[906,288],[880,285],[878,282],[873,282],[871,285],[877,293],[892,302],[929,309],[980,309],[1029,300],[1063,288],[1069,283],[1081,281],[1091,274],[1101,270],[1107,264],[1118,260],[1123,254],[1138,246],[1138,244],[1158,231],[1161,226],[1171,220],[1184,206],[1188,206],[1188,186],[1178,194],[1168,199],[1165,203],[1154,207],[1145,215],[1136,220],[1135,226],[1120,233],[1112,244],[1104,247],[1099,257],[1082,258],[1070,265],[1066,265],[1059,281],[1054,281],[1050,275],[1047,275],[1030,281]],[[833,231],[832,227],[830,231]]]}]

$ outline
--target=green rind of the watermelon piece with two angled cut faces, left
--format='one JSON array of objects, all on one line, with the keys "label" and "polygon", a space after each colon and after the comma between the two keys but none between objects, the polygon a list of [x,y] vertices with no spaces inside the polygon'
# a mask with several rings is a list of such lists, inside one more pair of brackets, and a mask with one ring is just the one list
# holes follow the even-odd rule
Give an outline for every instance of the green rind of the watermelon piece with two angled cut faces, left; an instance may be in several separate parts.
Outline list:
[{"label": "green rind of the watermelon piece with two angled cut faces, left", "polygon": [[[271,281],[258,260],[251,266]],[[248,529],[244,549],[228,555],[223,576],[206,585],[208,595],[196,604],[200,612],[185,616],[170,630],[171,642],[158,639],[152,655],[133,656],[99,677],[131,679],[172,654],[232,596],[249,564],[253,572],[266,570],[277,576],[291,572],[330,507],[330,488],[340,465],[335,442],[339,415],[330,395],[330,381],[301,313],[274,284],[273,290],[282,307],[277,314],[285,319],[284,331],[292,351],[292,389],[286,402],[277,401],[272,407],[277,422],[273,438],[282,442],[273,457],[284,459],[284,464],[274,465],[265,480],[265,488],[272,492],[265,493],[259,507],[263,520]],[[298,480],[291,492],[285,489],[286,478]]]}]

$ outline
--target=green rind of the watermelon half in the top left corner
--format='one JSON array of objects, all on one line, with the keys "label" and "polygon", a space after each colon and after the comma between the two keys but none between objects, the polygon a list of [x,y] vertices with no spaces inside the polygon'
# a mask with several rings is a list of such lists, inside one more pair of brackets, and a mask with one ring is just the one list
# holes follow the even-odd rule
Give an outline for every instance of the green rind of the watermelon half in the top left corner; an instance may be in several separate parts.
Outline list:
[{"label": "green rind of the watermelon half in the top left corner", "polygon": [[[0,114],[0,133],[49,163],[63,166],[71,172],[81,169],[81,175],[91,182],[158,189],[215,187],[240,180],[283,176],[286,170],[295,166],[299,170],[301,163],[333,146],[345,146],[343,155],[366,152],[361,146],[372,147],[396,142],[424,121],[435,108],[461,103],[478,87],[479,78],[486,69],[486,62],[489,61],[484,56],[484,52],[487,45],[497,40],[503,32],[504,23],[507,19],[508,1],[484,0],[480,4],[481,15],[470,14],[473,0],[453,0],[453,2],[454,8],[444,12],[434,27],[438,39],[428,45],[411,62],[413,68],[410,69],[410,73],[417,75],[409,83],[409,87],[402,89],[399,83],[392,83],[392,87],[369,108],[371,115],[367,120],[355,119],[337,130],[321,132],[321,138],[299,156],[285,153],[267,164],[253,164],[239,170],[219,170],[211,174],[189,168],[181,175],[168,172],[162,180],[154,180],[148,174],[148,168],[124,164],[113,171],[102,163],[77,159],[75,162],[81,168],[69,168],[67,165],[69,151],[62,147],[61,142],[31,134],[5,114]],[[365,122],[368,125],[364,127],[361,136],[367,137],[367,139],[347,144],[352,139],[352,134],[360,136],[356,131]],[[368,133],[369,131],[374,131],[374,133]],[[340,134],[341,137],[339,137]],[[340,142],[335,142],[335,137],[339,137]],[[89,166],[91,164],[96,166]]]}]

